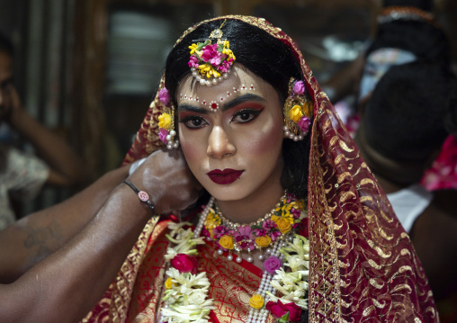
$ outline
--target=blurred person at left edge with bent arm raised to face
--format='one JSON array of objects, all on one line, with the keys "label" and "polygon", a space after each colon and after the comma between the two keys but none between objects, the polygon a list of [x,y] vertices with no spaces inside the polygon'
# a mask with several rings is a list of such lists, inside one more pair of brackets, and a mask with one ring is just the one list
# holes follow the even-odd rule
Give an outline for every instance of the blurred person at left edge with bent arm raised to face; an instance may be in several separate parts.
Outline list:
[{"label": "blurred person at left edge with bent arm raised to face", "polygon": [[13,84],[13,44],[4,35],[0,35],[0,122],[30,142],[40,156],[0,143],[0,229],[4,229],[16,220],[11,200],[30,200],[43,184],[70,186],[85,179],[75,150],[22,108]]}]

